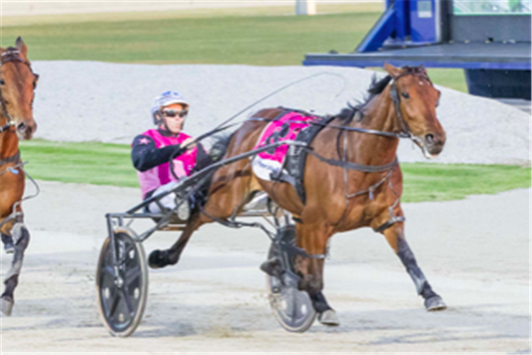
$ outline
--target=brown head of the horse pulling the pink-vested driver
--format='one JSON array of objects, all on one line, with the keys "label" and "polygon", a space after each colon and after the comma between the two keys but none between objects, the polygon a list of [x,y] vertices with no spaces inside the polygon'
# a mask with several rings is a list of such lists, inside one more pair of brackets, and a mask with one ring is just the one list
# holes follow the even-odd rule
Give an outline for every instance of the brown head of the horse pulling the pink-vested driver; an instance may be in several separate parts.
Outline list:
[{"label": "brown head of the horse pulling the pink-vested driver", "polygon": [[445,131],[436,117],[441,92],[423,67],[400,69],[386,64],[384,69],[393,79],[390,95],[400,129],[411,136],[426,158],[434,158],[445,145]]}]

